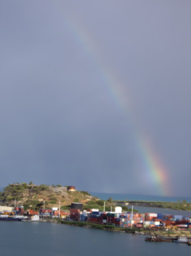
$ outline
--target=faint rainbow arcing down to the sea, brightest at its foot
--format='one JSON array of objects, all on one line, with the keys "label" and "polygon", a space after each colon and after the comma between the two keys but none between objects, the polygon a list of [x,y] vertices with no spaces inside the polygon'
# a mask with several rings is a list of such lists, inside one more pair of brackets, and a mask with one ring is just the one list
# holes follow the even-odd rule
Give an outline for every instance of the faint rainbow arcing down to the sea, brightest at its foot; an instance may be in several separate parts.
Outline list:
[{"label": "faint rainbow arcing down to the sea, brightest at its foot", "polygon": [[84,54],[90,57],[91,61],[96,65],[100,77],[102,77],[105,86],[107,86],[107,92],[110,94],[117,108],[128,115],[128,121],[133,126],[134,142],[143,163],[143,181],[145,181],[146,184],[149,182],[150,185],[154,185],[156,193],[159,195],[171,195],[167,170],[163,167],[162,161],[159,160],[156,151],[151,149],[149,140],[136,128],[134,118],[131,118],[131,102],[126,90],[124,90],[125,86],[122,85],[118,77],[115,76],[114,73],[111,72],[111,69],[108,68],[108,65],[105,64],[101,53],[97,50],[95,41],[92,40],[91,36],[84,30],[84,27],[80,25],[79,20],[76,20],[75,16],[71,14],[68,16],[64,14],[63,18],[65,20],[64,26],[69,30],[70,34],[73,35],[76,42],[83,48]]}]

